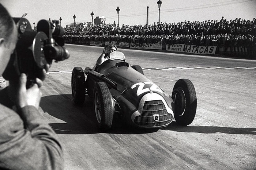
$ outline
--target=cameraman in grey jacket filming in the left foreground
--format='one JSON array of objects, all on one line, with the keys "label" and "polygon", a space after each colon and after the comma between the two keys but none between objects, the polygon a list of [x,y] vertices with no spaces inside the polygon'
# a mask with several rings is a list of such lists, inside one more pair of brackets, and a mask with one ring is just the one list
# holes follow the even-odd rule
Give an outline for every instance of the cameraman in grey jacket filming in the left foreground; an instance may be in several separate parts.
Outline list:
[{"label": "cameraman in grey jacket filming in the left foreground", "polygon": [[[15,50],[18,29],[0,3],[0,76]],[[49,67],[48,67],[49,68]],[[46,70],[48,70],[46,68]],[[46,74],[43,69],[43,74]],[[26,89],[27,77],[21,74],[15,104],[7,102],[10,86],[0,90],[0,169],[63,169],[63,152],[56,134],[45,123],[39,103],[42,80]],[[6,106],[8,105],[8,107]],[[41,110],[40,110],[41,109]]]}]

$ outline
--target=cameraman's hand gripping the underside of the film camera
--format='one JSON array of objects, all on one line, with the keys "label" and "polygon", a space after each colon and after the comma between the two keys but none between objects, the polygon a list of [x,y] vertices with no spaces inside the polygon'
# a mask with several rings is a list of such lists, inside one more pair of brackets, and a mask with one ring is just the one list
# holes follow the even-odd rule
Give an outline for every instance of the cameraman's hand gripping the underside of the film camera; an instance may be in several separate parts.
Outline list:
[{"label": "cameraman's hand gripping the underside of the film camera", "polygon": [[26,89],[27,76],[22,73],[19,78],[18,94],[17,94],[17,107],[23,108],[32,105],[38,109],[42,93],[39,86],[42,86],[42,81],[36,79],[36,84],[33,84],[29,89]]}]

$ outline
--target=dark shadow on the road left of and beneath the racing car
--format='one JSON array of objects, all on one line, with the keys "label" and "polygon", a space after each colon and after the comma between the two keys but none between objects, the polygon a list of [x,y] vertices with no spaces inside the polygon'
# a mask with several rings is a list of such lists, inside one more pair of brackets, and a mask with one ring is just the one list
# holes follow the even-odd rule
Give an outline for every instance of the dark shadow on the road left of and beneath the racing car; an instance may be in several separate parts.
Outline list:
[{"label": "dark shadow on the road left of and beneath the racing car", "polygon": [[[96,134],[102,133],[96,122],[93,102],[86,96],[84,104],[77,106],[72,94],[58,94],[41,98],[40,106],[49,115],[49,125],[57,134]],[[47,115],[47,114],[45,114]],[[55,117],[56,119],[54,119]],[[113,124],[108,134],[146,134],[158,129],[136,129],[126,126],[118,116],[113,116]]]}]

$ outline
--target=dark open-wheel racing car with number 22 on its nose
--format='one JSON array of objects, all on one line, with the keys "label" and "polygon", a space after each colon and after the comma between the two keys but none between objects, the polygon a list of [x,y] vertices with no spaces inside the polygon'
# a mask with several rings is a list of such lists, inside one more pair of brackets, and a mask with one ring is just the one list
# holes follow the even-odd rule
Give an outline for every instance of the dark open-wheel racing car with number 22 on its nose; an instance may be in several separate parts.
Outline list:
[{"label": "dark open-wheel racing car with number 22 on its nose", "polygon": [[196,91],[190,80],[176,81],[170,96],[144,76],[142,67],[131,66],[117,51],[93,69],[74,67],[71,88],[75,104],[82,105],[86,94],[93,100],[102,131],[111,128],[114,114],[138,128],[162,128],[174,119],[186,126],[196,114]]}]

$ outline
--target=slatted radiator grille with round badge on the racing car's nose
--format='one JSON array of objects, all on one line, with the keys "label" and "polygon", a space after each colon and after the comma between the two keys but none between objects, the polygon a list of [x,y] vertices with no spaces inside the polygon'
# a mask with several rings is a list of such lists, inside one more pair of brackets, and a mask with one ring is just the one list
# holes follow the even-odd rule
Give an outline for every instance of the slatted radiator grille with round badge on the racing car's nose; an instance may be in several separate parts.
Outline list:
[{"label": "slatted radiator grille with round badge on the racing car's nose", "polygon": [[143,127],[163,127],[172,121],[162,100],[146,101],[142,114],[135,117],[134,123]]}]

